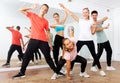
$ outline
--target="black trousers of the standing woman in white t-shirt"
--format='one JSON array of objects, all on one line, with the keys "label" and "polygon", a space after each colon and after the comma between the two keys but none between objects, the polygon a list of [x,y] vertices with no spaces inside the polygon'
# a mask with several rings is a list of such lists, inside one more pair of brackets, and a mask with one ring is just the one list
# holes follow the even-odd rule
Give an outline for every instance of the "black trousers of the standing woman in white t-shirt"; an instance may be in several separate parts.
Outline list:
[{"label": "black trousers of the standing woman in white t-shirt", "polygon": [[82,48],[83,45],[86,45],[88,47],[88,49],[94,59],[95,64],[97,65],[97,67],[99,69],[101,69],[99,59],[97,58],[97,55],[95,53],[95,46],[94,46],[93,41],[78,41],[77,42],[77,52],[80,51],[80,49]]}]

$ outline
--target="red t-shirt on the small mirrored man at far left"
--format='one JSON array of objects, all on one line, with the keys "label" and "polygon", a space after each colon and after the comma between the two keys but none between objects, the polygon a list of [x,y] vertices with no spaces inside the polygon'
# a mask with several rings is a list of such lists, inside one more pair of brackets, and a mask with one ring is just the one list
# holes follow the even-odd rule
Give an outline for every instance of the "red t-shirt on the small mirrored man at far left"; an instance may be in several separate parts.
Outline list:
[{"label": "red t-shirt on the small mirrored man at far left", "polygon": [[22,34],[19,31],[14,30],[12,28],[10,28],[9,30],[12,33],[12,44],[20,46],[20,39],[22,38]]}]

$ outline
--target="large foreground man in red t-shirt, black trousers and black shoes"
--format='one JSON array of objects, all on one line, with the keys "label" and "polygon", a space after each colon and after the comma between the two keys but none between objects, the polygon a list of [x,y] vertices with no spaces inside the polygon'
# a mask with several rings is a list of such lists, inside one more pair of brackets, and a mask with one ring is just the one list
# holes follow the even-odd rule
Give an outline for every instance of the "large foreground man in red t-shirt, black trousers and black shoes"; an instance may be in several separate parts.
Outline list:
[{"label": "large foreground man in red t-shirt, black trousers and black shoes", "polygon": [[28,12],[28,10],[36,9],[36,8],[37,5],[35,4],[31,7],[20,9],[20,11],[30,19],[31,34],[26,52],[24,54],[20,72],[17,75],[13,76],[13,78],[25,77],[25,71],[29,64],[29,61],[33,57],[33,52],[38,48],[40,48],[50,68],[55,73],[57,73],[56,72],[57,68],[55,67],[55,64],[50,55],[50,48],[52,49],[52,42],[50,40],[49,25],[47,19],[44,18],[45,14],[48,12],[49,7],[47,4],[43,4],[40,7],[40,13],[38,15],[32,12]]}]

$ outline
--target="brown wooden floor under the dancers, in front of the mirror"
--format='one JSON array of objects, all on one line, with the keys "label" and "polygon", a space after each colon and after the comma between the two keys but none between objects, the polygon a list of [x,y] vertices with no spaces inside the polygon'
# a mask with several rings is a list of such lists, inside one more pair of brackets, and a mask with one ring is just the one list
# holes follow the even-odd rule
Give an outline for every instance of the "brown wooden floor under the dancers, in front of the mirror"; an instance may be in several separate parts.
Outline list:
[{"label": "brown wooden floor under the dancers, in front of the mirror", "polygon": [[[106,63],[101,63],[103,70],[106,69]],[[90,78],[79,76],[80,67],[75,65],[72,80],[67,80],[65,76],[56,80],[51,80],[53,72],[50,68],[28,69],[25,78],[12,79],[12,76],[18,73],[18,70],[0,72],[0,83],[120,83],[120,62],[112,62],[112,65],[117,69],[115,71],[107,71],[105,77],[101,77],[99,72],[91,72],[91,63],[87,65],[87,73]]]}]

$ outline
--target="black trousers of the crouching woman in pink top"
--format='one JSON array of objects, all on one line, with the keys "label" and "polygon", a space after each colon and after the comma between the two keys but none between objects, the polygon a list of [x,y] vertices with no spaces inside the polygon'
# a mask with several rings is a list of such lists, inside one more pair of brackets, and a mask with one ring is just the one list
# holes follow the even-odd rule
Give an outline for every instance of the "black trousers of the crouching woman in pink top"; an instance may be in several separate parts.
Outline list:
[{"label": "black trousers of the crouching woman in pink top", "polygon": [[[87,60],[85,58],[77,55],[75,60],[71,61],[71,70],[73,69],[73,64],[76,62],[81,63],[81,72],[85,72]],[[59,62],[58,62],[58,66],[57,66],[58,72],[61,70],[61,68],[64,66],[65,63],[66,63],[66,60],[62,59],[62,57],[61,57]]]}]

